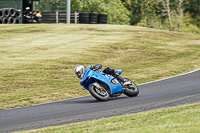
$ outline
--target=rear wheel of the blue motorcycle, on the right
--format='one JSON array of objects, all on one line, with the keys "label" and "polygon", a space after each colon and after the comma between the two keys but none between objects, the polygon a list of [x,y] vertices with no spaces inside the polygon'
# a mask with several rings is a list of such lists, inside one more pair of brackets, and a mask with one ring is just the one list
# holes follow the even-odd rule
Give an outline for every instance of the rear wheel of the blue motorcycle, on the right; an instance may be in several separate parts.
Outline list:
[{"label": "rear wheel of the blue motorcycle, on the right", "polygon": [[[126,80],[129,80],[129,79],[126,79]],[[131,80],[129,80],[129,81],[131,81]],[[133,81],[131,81],[131,84],[127,85],[125,87],[124,94],[129,96],[129,97],[137,96],[139,94],[138,86]]]}]

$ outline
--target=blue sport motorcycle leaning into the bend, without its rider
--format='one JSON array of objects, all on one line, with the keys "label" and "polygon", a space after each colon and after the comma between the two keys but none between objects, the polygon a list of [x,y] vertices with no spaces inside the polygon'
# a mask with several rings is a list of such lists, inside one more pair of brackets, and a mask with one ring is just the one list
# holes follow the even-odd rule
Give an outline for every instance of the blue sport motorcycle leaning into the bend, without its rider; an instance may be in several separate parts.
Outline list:
[{"label": "blue sport motorcycle leaning into the bend, without its rider", "polygon": [[[115,77],[103,73],[101,70],[93,71],[90,68],[91,66],[86,68],[80,84],[97,100],[107,101],[112,97],[120,96],[122,93],[130,97],[139,94],[139,89],[133,81],[125,78],[125,83],[121,85]],[[115,70],[115,72],[120,75],[122,70]]]}]

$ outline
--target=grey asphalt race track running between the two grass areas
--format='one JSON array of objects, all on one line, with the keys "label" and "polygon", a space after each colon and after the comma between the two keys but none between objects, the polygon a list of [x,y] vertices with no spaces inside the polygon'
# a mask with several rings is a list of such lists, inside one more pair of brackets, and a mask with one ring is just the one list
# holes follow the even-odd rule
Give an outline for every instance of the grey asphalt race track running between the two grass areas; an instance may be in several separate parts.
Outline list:
[{"label": "grey asphalt race track running between the two grass areas", "polygon": [[122,95],[107,102],[92,96],[0,111],[0,132],[131,114],[156,108],[200,102],[200,69],[139,85],[137,97]]}]

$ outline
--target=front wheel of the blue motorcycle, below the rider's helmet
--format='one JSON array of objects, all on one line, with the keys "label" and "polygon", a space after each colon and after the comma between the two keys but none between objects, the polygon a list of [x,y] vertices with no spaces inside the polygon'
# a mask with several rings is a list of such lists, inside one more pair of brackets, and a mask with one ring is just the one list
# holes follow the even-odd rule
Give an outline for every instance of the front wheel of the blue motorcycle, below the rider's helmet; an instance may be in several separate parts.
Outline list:
[{"label": "front wheel of the blue motorcycle, below the rider's helmet", "polygon": [[90,85],[88,90],[90,94],[99,101],[108,101],[110,98],[108,91],[104,87]]}]

